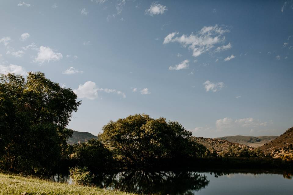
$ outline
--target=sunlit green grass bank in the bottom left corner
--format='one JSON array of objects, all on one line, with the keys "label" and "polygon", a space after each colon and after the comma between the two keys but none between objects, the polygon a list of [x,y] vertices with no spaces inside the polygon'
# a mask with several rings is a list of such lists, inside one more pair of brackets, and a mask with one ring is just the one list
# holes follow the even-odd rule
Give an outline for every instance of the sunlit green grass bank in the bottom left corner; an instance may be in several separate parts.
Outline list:
[{"label": "sunlit green grass bank in the bottom left corner", "polygon": [[56,183],[33,177],[23,177],[0,173],[0,195],[20,195],[27,192],[27,195],[126,195],[131,193],[106,190],[89,186],[68,185]]}]

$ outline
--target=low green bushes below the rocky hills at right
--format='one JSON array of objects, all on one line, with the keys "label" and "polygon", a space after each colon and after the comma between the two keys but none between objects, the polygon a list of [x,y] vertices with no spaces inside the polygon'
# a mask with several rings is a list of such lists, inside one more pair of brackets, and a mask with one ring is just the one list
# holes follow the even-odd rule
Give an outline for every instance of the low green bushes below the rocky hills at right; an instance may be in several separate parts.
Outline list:
[{"label": "low green bushes below the rocky hills at right", "polygon": [[249,147],[231,146],[227,150],[219,153],[221,157],[267,157],[260,149],[252,149]]}]

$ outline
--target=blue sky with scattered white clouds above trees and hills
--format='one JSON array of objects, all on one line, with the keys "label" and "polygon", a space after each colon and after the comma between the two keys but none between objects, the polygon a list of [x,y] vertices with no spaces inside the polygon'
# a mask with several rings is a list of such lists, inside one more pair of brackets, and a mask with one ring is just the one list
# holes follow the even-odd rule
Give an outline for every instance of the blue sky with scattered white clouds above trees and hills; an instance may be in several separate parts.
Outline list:
[{"label": "blue sky with scattered white clouds above trees and hills", "polygon": [[197,137],[293,126],[293,1],[0,2],[0,73],[41,71],[97,135],[144,113]]}]

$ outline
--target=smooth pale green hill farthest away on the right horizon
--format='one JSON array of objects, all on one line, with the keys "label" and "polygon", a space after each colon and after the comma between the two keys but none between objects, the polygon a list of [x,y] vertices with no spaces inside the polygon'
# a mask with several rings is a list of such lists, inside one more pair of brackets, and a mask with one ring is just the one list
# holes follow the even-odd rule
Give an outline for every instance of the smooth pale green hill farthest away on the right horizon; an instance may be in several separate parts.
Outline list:
[{"label": "smooth pale green hill farthest away on the right horizon", "polygon": [[237,142],[239,144],[244,144],[250,147],[259,147],[263,144],[274,140],[278,136],[259,136],[259,137],[252,137],[252,136],[242,136],[242,135],[236,135],[236,136],[227,136],[227,137],[217,137],[215,139],[219,140],[228,140],[232,142]]}]

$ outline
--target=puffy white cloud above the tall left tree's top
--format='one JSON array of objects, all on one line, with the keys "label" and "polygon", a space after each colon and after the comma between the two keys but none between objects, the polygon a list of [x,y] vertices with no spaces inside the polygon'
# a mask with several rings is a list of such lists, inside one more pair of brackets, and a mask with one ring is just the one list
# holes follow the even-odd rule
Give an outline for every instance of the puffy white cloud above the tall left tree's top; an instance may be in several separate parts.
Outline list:
[{"label": "puffy white cloud above the tall left tree's top", "polygon": [[59,61],[62,58],[63,56],[61,53],[55,53],[51,48],[41,46],[39,48],[38,56],[35,57],[34,62],[39,62],[42,64],[45,61],[49,63],[50,60]]}]

